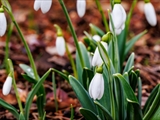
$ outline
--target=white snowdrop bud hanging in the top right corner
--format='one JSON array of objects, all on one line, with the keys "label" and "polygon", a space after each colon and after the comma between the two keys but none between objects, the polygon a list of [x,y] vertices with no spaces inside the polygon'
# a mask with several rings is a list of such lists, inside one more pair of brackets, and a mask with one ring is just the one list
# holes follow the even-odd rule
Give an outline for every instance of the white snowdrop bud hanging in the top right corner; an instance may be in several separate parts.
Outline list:
[{"label": "white snowdrop bud hanging in the top right corner", "polygon": [[145,3],[144,5],[144,14],[146,16],[148,23],[151,26],[155,26],[157,24],[156,13],[155,13],[153,5],[150,2]]}]

